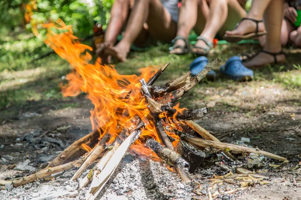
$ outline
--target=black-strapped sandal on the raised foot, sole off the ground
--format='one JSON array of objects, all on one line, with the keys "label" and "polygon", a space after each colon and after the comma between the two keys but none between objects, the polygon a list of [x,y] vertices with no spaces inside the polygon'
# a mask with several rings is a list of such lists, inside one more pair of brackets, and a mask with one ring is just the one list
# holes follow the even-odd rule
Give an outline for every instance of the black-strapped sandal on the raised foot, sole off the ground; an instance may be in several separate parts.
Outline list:
[{"label": "black-strapped sandal on the raised foot, sole off the ground", "polygon": [[[228,34],[225,34],[223,36],[223,39],[225,39],[226,41],[229,41],[229,42],[237,42],[237,41],[240,41],[242,39],[252,39],[254,37],[257,37],[257,36],[261,36],[261,35],[265,35],[266,34],[266,31],[258,31],[258,23],[260,22],[263,22],[263,20],[256,20],[256,19],[252,19],[252,18],[248,18],[248,17],[244,17],[240,20],[243,21],[243,20],[251,20],[251,21],[254,21],[256,23],[256,30],[255,32],[250,32],[250,33],[247,33],[247,34],[244,34],[244,35],[239,35],[239,34],[231,34],[231,35],[228,35]],[[235,28],[238,27],[238,25],[240,24],[237,23],[237,25],[235,26]],[[234,29],[235,29],[234,28]]]}]

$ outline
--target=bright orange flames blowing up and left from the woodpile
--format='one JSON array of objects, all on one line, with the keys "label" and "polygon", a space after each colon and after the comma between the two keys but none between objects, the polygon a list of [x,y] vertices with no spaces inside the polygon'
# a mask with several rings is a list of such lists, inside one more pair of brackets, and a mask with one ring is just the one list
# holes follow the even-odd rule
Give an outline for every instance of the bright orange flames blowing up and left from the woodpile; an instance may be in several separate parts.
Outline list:
[{"label": "bright orange flames blowing up and left from the woodpile", "polygon": [[[45,43],[66,59],[74,69],[66,76],[69,83],[62,87],[63,96],[76,96],[81,92],[87,94],[87,98],[94,104],[94,109],[90,111],[92,128],[100,128],[100,138],[105,133],[109,133],[111,137],[108,143],[113,142],[126,122],[133,116],[139,116],[146,122],[145,128],[140,140],[135,141],[130,149],[139,155],[161,160],[152,150],[143,145],[143,139],[146,137],[153,137],[160,141],[154,122],[146,119],[149,110],[140,92],[139,83],[141,78],[147,81],[152,77],[155,68],[153,66],[141,68],[140,75],[119,74],[113,65],[101,64],[100,58],[93,62],[92,55],[88,52],[92,48],[80,43],[79,38],[73,35],[71,25],[58,20],[56,23],[43,24],[42,27],[47,28]],[[126,98],[129,92],[130,95]],[[179,108],[179,104],[174,108],[180,113],[184,110]],[[166,117],[172,128],[180,128],[172,122],[175,121],[174,118],[166,115],[161,117]],[[169,136],[175,138],[173,144],[176,145],[179,136],[169,130],[166,131]],[[91,150],[87,145],[82,145],[82,148],[88,152]]]}]

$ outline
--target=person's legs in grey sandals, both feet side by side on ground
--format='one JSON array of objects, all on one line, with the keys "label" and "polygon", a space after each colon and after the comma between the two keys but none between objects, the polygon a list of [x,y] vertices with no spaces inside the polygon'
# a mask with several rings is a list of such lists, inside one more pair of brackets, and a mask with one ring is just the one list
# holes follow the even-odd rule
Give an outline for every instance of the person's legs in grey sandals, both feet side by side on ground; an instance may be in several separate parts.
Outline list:
[{"label": "person's legs in grey sandals, both feet side by side on ground", "polygon": [[188,52],[188,35],[194,28],[197,34],[196,44],[191,52],[207,55],[213,47],[213,39],[218,33],[224,35],[246,15],[244,9],[247,0],[182,0],[177,36],[170,53]]}]

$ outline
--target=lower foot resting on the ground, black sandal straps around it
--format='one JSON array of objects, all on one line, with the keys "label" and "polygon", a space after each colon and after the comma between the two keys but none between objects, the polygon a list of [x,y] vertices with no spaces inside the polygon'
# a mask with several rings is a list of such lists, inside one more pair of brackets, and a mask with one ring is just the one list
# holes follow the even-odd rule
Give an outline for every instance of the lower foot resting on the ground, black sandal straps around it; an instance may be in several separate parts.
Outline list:
[{"label": "lower foot resting on the ground, black sandal straps around it", "polygon": [[[283,62],[285,60],[284,54],[276,55],[277,62]],[[265,52],[259,52],[257,55],[252,57],[250,60],[244,61],[243,65],[246,67],[259,67],[265,64],[274,63],[274,56]]]}]

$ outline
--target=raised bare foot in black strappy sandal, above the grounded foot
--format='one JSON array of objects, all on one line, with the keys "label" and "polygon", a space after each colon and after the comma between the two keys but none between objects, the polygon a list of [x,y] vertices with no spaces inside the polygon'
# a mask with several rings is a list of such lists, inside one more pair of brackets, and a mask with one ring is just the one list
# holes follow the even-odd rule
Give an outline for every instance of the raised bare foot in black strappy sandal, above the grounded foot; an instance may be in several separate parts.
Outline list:
[{"label": "raised bare foot in black strappy sandal, above the grounded foot", "polygon": [[[264,23],[258,23],[258,32],[264,31]],[[256,22],[245,19],[242,20],[234,30],[227,30],[226,35],[245,35],[256,31]]]}]

